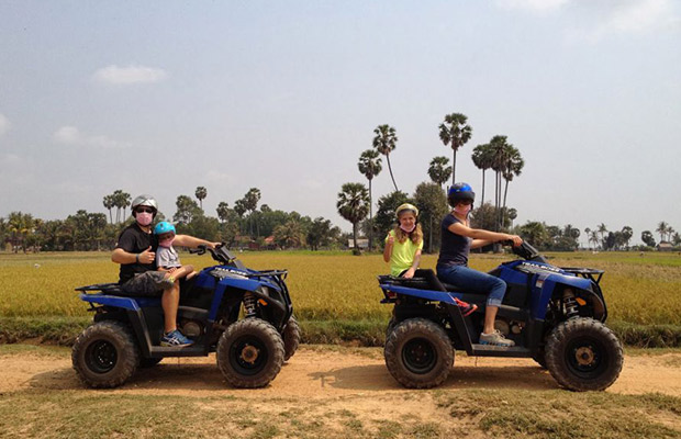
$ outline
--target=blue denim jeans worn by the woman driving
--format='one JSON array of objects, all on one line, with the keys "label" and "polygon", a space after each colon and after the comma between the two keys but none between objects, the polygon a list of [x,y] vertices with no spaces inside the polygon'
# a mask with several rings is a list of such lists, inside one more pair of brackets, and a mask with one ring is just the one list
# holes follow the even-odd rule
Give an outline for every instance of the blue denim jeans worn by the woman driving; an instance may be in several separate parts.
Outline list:
[{"label": "blue denim jeans worn by the woman driving", "polygon": [[506,282],[465,266],[437,266],[437,277],[446,283],[460,286],[462,292],[489,293],[488,306],[499,306],[506,293]]}]

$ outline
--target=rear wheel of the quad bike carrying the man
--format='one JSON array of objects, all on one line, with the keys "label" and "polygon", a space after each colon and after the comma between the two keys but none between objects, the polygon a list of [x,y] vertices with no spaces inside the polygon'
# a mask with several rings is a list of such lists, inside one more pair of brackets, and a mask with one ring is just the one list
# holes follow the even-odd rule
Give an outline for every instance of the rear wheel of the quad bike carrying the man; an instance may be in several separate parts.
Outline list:
[{"label": "rear wheel of the quad bike carrying the man", "polygon": [[127,326],[120,322],[99,322],[76,338],[71,361],[85,384],[111,389],[135,373],[139,356]]}]

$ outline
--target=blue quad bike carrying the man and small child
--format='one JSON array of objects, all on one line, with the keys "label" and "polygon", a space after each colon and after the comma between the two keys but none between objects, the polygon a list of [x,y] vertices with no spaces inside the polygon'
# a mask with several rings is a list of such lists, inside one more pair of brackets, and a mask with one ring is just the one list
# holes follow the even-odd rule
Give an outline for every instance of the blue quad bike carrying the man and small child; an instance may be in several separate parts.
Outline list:
[{"label": "blue quad bike carrying the man and small child", "polygon": [[180,282],[178,328],[194,344],[161,347],[164,313],[159,297],[131,296],[118,283],[81,286],[93,323],[76,339],[72,363],[91,387],[115,387],[137,368],[166,357],[205,357],[216,352],[217,367],[235,387],[261,387],[273,380],[300,342],[300,329],[284,279],[286,270],[256,271],[226,246],[199,247],[217,266]]}]

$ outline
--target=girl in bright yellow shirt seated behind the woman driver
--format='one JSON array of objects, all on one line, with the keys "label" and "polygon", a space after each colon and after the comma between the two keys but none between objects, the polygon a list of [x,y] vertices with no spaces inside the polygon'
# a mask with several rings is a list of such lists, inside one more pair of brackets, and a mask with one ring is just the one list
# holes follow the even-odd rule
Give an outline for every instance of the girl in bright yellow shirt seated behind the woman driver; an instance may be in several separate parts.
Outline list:
[{"label": "girl in bright yellow shirt seated behind the woman driver", "polygon": [[[383,260],[390,262],[390,274],[406,279],[413,278],[415,273],[426,279],[433,277],[431,270],[417,270],[423,249],[418,209],[413,204],[404,203],[397,209],[395,215],[398,225],[388,233],[383,250]],[[478,309],[478,305],[471,305],[456,297],[454,300],[465,317]]]}]

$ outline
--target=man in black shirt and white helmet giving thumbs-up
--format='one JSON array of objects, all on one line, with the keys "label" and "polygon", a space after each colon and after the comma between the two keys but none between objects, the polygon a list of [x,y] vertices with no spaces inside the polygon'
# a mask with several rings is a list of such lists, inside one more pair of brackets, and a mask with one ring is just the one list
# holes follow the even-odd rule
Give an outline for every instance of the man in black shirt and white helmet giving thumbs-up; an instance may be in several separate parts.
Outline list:
[{"label": "man in black shirt and white helmet giving thumbs-up", "polygon": [[[119,235],[111,260],[121,264],[119,284],[135,295],[161,296],[164,309],[164,336],[161,346],[189,346],[192,340],[177,329],[177,311],[180,302],[179,281],[168,281],[164,271],[156,271],[158,238],[152,232],[152,222],[158,213],[158,204],[152,195],[142,194],[131,205],[135,222]],[[175,245],[197,248],[204,245],[215,248],[217,243],[188,235],[177,235]]]}]

